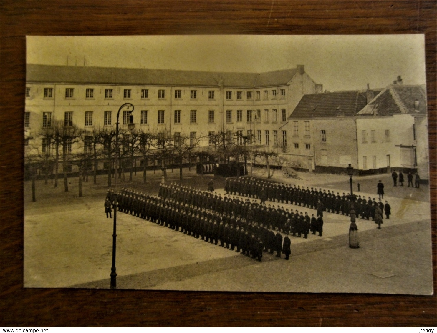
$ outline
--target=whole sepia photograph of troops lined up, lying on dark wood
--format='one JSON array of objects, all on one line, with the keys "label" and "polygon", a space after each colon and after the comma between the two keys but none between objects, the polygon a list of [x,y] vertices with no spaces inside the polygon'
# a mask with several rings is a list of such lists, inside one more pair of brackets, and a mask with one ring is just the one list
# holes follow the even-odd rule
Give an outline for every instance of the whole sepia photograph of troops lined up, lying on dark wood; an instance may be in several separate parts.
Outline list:
[{"label": "whole sepia photograph of troops lined up, lying on dark wood", "polygon": [[27,36],[24,288],[432,295],[425,39]]}]

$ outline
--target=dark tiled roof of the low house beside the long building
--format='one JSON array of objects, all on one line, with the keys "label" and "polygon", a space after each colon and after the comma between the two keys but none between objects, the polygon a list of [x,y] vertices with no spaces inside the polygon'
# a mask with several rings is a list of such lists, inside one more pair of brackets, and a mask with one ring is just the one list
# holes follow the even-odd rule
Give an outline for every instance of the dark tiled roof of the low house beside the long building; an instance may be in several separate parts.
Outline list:
[{"label": "dark tiled roof of the low house beside the long building", "polygon": [[[375,90],[374,90],[375,91]],[[376,90],[379,92],[379,90]],[[365,91],[337,91],[302,96],[291,118],[354,116],[366,106]]]}]

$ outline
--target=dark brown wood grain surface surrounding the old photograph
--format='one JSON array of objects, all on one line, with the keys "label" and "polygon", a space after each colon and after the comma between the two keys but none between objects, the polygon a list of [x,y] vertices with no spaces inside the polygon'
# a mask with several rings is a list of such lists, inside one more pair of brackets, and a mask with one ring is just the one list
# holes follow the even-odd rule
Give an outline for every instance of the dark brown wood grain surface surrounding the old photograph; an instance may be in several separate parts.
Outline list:
[{"label": "dark brown wood grain surface surrounding the old photograph", "polygon": [[436,288],[436,1],[0,1],[0,326],[436,326],[436,296],[23,288],[26,35],[425,34]]}]

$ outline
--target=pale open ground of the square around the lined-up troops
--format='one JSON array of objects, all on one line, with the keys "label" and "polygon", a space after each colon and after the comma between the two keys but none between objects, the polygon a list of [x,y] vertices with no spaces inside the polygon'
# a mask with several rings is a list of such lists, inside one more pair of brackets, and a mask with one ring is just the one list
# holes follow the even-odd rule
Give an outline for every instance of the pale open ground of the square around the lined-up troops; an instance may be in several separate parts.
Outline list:
[{"label": "pale open ground of the square around the lined-up troops", "polygon": [[[257,176],[265,177],[264,173],[265,169],[254,170]],[[169,175],[176,180],[178,172]],[[188,170],[184,175],[187,184],[205,188],[210,179],[205,175],[202,180]],[[340,193],[349,190],[347,175],[299,175],[302,180],[283,179],[280,172],[274,172],[273,179]],[[159,172],[150,172],[149,184],[125,185],[153,192],[159,176]],[[142,175],[136,177],[134,180],[139,180]],[[393,187],[390,175],[357,179],[361,189],[368,191],[361,193],[371,197],[382,179],[392,218],[384,220],[382,230],[375,229],[372,221],[358,220],[361,247],[350,249],[349,219],[326,214],[323,237],[291,237],[290,261],[265,254],[260,263],[119,213],[118,288],[431,294],[427,187]],[[62,183],[53,189],[50,181],[48,185],[38,181],[35,203],[30,200],[30,184],[25,183],[25,287],[109,287],[112,220],[103,213],[105,177],[99,177],[100,185],[85,183],[82,198],[77,197],[76,183],[77,179],[72,179],[70,192],[63,192]],[[215,179],[217,192],[223,193],[219,188],[222,183],[222,179]],[[312,213],[311,209],[305,211]]]}]

